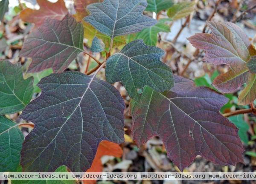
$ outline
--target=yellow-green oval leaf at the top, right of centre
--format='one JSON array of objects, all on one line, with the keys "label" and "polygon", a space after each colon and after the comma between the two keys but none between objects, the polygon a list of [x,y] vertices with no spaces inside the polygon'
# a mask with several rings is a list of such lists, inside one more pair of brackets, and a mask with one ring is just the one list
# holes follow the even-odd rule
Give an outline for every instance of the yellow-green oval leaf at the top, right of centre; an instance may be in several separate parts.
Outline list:
[{"label": "yellow-green oval leaf at the top, right of centre", "polygon": [[193,1],[177,3],[168,9],[167,15],[173,20],[178,20],[191,14],[194,11],[194,5]]}]

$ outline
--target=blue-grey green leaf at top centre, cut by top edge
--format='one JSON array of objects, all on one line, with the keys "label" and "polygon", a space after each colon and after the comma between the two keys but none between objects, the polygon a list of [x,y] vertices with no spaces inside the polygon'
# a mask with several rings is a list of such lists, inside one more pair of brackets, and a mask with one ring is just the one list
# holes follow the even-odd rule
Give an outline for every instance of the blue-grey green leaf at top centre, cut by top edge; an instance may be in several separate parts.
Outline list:
[{"label": "blue-grey green leaf at top centre, cut by top edge", "polygon": [[105,0],[88,5],[90,15],[84,20],[111,38],[128,35],[156,23],[143,15],[146,6],[146,0]]}]

